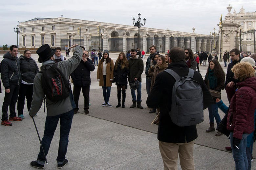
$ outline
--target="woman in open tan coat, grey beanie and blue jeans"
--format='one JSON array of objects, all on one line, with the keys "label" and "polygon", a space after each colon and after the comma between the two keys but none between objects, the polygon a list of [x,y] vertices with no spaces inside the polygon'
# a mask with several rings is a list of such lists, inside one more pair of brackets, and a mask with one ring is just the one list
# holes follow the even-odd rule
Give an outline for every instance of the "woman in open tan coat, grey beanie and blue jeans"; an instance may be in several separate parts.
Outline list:
[{"label": "woman in open tan coat, grey beanie and blue jeans", "polygon": [[97,81],[102,86],[104,103],[101,106],[112,107],[109,103],[112,81],[114,79],[114,62],[109,58],[108,50],[104,50],[103,57],[99,61],[97,70]]}]

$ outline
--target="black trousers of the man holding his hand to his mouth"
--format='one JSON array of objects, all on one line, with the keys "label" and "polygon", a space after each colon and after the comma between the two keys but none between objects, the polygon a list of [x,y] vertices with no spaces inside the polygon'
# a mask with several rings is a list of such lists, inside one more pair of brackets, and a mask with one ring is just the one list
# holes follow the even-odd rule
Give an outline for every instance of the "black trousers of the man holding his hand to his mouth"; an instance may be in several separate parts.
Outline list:
[{"label": "black trousers of the man holding his hand to his mouth", "polygon": [[82,87],[74,85],[73,95],[74,95],[75,105],[76,105],[76,108],[79,109],[78,108],[78,100],[80,97],[81,88],[82,88],[82,93],[84,96],[84,110],[88,110],[89,102],[90,102],[90,85],[82,86]]}]

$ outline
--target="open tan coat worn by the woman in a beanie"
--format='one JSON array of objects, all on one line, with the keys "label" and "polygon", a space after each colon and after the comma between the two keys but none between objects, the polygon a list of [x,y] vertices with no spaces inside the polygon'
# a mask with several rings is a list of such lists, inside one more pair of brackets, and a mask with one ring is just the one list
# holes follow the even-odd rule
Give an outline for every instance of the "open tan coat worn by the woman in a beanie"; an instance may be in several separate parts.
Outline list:
[{"label": "open tan coat worn by the woman in a beanie", "polygon": [[[97,70],[97,80],[99,80],[99,86],[104,86],[104,80],[103,80],[103,63],[98,65]],[[106,87],[112,86],[112,81],[114,79],[114,61],[111,60],[110,63],[107,63],[106,67]]]}]

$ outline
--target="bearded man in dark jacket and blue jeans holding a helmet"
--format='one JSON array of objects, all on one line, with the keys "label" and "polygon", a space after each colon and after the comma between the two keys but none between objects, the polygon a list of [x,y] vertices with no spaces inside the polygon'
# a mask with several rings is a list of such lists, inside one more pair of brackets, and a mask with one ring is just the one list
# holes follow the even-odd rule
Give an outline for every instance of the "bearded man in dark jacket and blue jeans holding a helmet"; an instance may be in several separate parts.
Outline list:
[{"label": "bearded man in dark jacket and blue jeans holding a helmet", "polygon": [[129,77],[128,80],[130,83],[135,82],[136,80],[139,81],[139,87],[137,88],[137,100],[136,100],[136,94],[135,90],[131,89],[131,94],[133,98],[133,104],[130,106],[130,108],[136,107],[136,101],[137,101],[137,107],[140,109],[143,109],[141,106],[141,74],[143,72],[143,60],[139,58],[139,55],[136,55],[136,49],[131,49],[131,57],[129,60]]}]

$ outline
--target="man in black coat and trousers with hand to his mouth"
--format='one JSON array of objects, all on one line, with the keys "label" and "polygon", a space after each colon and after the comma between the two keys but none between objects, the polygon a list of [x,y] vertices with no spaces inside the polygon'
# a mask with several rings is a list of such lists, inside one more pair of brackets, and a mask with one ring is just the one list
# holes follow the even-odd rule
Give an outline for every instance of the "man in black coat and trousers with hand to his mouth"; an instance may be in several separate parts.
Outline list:
[{"label": "man in black coat and trousers with hand to his mouth", "polygon": [[74,82],[74,101],[76,108],[74,110],[74,114],[78,111],[78,100],[80,96],[80,91],[82,88],[83,96],[84,96],[84,113],[89,114],[89,101],[90,101],[90,85],[91,85],[91,71],[95,69],[93,65],[93,61],[89,59],[89,51],[85,50],[83,52],[82,60],[79,65],[71,74],[71,78]]}]

